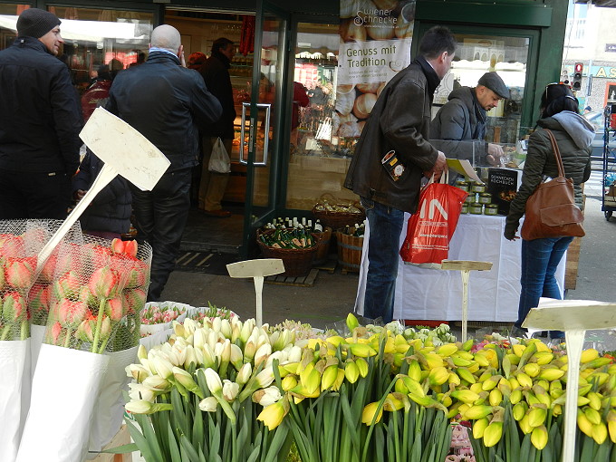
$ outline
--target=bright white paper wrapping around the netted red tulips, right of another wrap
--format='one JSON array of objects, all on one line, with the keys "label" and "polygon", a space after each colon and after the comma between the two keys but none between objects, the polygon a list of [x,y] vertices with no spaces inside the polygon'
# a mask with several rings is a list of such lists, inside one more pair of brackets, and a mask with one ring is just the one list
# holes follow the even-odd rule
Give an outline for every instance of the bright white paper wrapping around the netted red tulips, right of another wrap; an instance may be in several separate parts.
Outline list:
[{"label": "bright white paper wrapping around the netted red tulips, right of another wrap", "polygon": [[109,360],[105,354],[41,346],[17,462],[76,462],[86,457]]}]

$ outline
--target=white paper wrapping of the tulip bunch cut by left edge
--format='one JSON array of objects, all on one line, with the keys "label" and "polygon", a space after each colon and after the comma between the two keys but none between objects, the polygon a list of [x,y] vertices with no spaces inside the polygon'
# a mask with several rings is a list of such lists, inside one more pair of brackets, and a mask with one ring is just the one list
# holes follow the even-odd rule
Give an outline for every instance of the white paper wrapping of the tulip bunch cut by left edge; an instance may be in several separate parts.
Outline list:
[{"label": "white paper wrapping of the tulip bunch cut by left edge", "polygon": [[0,342],[0,460],[13,462],[22,429],[23,381],[29,340]]}]

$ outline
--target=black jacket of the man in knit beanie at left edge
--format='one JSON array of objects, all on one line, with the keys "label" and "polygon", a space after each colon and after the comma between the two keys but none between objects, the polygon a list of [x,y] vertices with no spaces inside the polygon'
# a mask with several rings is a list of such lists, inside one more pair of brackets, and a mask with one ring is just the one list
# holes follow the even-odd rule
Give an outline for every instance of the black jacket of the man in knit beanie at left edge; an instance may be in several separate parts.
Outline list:
[{"label": "black jacket of the man in knit beanie at left edge", "polygon": [[79,166],[82,112],[66,65],[33,37],[0,52],[0,168],[63,172]]}]

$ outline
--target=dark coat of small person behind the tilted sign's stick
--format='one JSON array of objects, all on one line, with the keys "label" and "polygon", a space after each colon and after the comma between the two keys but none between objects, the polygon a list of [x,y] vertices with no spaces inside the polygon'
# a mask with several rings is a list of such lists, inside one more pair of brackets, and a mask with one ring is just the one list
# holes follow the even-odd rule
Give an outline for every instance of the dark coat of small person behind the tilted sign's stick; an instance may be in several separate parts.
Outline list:
[{"label": "dark coat of small person behind the tilted sign's stick", "polygon": [[[72,193],[77,189],[87,191],[92,182],[101,172],[104,165],[88,150],[82,160],[79,173],[72,178]],[[111,183],[94,197],[90,206],[79,218],[82,229],[86,231],[106,231],[109,233],[128,233],[130,228],[130,214],[132,212],[132,197],[126,179],[117,176]]]}]

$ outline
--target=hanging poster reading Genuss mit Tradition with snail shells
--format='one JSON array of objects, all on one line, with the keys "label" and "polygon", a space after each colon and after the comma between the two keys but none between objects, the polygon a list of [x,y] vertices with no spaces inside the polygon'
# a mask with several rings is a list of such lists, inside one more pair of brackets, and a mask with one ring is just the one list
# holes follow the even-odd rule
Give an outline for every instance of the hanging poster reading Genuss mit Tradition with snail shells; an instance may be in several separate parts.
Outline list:
[{"label": "hanging poster reading Genuss mit Tradition with snail shells", "polygon": [[341,0],[340,14],[332,135],[357,138],[380,91],[410,64],[415,1]]}]

